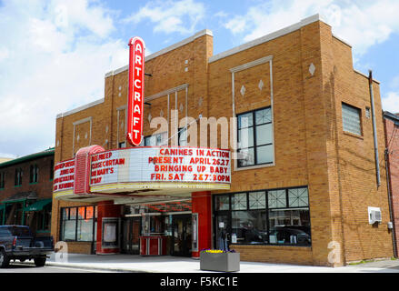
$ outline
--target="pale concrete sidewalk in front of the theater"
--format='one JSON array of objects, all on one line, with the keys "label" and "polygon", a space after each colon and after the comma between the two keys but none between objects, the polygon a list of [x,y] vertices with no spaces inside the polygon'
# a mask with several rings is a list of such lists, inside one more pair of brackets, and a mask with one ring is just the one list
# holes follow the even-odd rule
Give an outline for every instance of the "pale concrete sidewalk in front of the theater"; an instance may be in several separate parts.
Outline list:
[{"label": "pale concrete sidewalk in front of the theater", "polygon": [[[48,266],[148,273],[212,273],[200,270],[199,259],[176,256],[138,255],[81,255],[66,254],[60,262],[59,254],[47,259]],[[64,255],[65,256],[65,255]],[[296,266],[286,264],[241,262],[239,273],[399,273],[399,260],[383,260],[341,267]]]}]

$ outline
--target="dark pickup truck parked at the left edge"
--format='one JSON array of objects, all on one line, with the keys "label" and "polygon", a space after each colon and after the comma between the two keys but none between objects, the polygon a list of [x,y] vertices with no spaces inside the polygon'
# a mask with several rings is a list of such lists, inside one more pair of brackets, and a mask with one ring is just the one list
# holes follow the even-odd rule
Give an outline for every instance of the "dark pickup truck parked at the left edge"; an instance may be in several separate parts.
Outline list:
[{"label": "dark pickup truck parked at the left edge", "polygon": [[11,260],[34,260],[45,266],[47,255],[54,251],[53,236],[35,237],[28,226],[0,226],[0,267]]}]

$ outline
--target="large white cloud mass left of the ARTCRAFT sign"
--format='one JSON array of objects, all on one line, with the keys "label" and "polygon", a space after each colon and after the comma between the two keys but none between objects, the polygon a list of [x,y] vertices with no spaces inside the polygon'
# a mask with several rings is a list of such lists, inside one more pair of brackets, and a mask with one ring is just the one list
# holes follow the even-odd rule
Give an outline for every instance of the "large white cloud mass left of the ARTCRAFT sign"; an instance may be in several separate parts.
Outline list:
[{"label": "large white cloud mass left of the ARTCRAFT sign", "polygon": [[126,65],[97,1],[6,1],[0,6],[0,152],[55,145],[55,116],[104,97],[106,72]]}]

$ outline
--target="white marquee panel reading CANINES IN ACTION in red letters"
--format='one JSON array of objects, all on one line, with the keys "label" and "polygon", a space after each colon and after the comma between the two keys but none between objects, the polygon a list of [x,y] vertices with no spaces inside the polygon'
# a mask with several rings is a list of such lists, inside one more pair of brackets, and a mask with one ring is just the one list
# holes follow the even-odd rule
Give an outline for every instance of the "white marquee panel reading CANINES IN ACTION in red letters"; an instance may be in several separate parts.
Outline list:
[{"label": "white marquee panel reading CANINES IN ACTION in red letters", "polygon": [[230,152],[190,147],[142,147],[92,156],[90,186],[126,182],[229,183]]}]

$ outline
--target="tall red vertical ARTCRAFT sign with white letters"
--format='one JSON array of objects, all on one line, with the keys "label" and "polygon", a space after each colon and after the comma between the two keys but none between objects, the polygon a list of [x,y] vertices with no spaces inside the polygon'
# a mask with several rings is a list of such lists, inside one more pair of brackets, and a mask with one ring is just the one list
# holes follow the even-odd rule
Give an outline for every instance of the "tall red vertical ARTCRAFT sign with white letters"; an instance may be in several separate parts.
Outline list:
[{"label": "tall red vertical ARTCRAFT sign with white letters", "polygon": [[138,36],[129,41],[129,95],[127,101],[127,140],[139,146],[143,133],[145,94],[145,42]]}]

